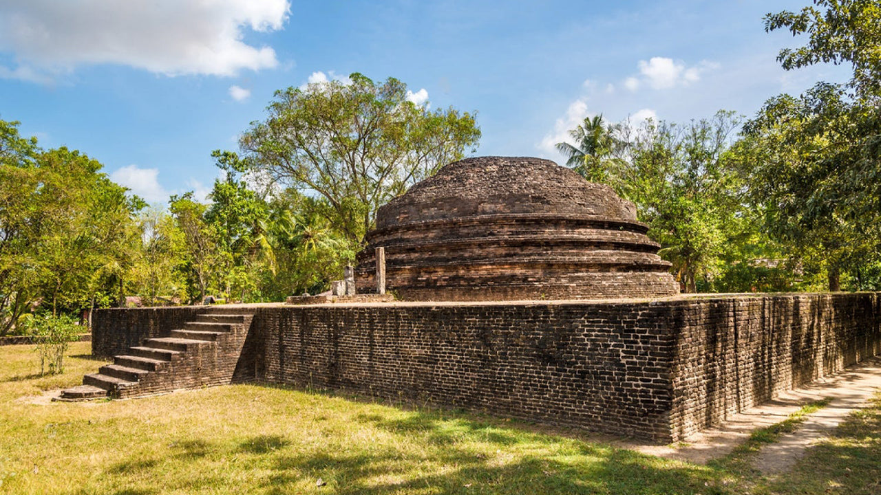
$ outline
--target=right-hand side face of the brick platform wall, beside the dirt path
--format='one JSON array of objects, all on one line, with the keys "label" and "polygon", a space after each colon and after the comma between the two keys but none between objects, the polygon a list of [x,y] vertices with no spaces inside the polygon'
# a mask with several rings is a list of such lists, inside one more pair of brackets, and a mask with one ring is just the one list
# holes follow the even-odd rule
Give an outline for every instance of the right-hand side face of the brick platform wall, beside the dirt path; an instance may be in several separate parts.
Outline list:
[{"label": "right-hand side face of the brick platform wall, beside the dirt path", "polygon": [[670,302],[674,438],[881,353],[881,294]]}]

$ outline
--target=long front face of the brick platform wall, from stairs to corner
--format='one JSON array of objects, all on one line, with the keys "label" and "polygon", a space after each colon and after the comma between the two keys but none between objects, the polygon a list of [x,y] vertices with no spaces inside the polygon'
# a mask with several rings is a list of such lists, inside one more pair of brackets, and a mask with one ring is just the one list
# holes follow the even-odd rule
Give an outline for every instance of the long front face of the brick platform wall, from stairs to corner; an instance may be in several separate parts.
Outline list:
[{"label": "long front face of the brick platform wall, from stairs to corner", "polygon": [[261,308],[261,377],[664,440],[673,336],[640,304]]}]

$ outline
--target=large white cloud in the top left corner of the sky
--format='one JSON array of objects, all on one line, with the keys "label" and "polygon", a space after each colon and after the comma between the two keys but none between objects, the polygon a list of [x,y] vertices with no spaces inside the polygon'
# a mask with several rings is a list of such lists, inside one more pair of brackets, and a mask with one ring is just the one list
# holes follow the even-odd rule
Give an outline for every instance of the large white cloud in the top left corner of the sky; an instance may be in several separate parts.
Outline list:
[{"label": "large white cloud in the top left corner of the sky", "polygon": [[245,29],[279,30],[288,0],[28,0],[0,4],[0,51],[15,68],[0,77],[45,82],[78,65],[118,63],[178,76],[234,76],[278,65]]}]

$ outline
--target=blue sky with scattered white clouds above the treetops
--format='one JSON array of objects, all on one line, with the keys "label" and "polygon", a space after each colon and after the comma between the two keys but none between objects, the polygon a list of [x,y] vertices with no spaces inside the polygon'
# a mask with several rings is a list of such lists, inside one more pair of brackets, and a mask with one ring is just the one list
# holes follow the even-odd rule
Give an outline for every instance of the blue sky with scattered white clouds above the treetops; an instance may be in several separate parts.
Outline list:
[{"label": "blue sky with scattered white clouds above the treetops", "polygon": [[0,118],[66,145],[151,202],[196,190],[278,89],[358,71],[478,112],[478,155],[540,156],[587,115],[685,122],[847,69],[786,72],[768,11],[807,0],[13,0],[0,5]]}]

